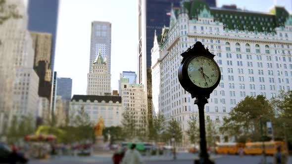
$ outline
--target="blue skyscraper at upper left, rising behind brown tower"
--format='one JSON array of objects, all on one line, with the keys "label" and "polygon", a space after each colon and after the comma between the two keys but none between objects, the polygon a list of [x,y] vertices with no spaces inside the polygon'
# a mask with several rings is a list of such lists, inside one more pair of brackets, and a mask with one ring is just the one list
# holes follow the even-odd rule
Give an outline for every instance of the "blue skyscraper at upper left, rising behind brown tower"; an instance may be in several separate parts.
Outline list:
[{"label": "blue skyscraper at upper left, rising behind brown tower", "polygon": [[52,35],[51,70],[54,68],[58,7],[59,0],[29,0],[28,4],[28,30]]}]

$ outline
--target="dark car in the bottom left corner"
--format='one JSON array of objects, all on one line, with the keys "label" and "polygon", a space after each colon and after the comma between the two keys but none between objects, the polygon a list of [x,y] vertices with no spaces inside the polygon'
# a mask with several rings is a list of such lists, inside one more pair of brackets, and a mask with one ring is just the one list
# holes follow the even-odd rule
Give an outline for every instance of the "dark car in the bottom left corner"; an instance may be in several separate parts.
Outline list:
[{"label": "dark car in the bottom left corner", "polygon": [[27,164],[28,159],[24,156],[24,153],[17,152],[17,150],[11,150],[7,145],[0,143],[0,164]]}]

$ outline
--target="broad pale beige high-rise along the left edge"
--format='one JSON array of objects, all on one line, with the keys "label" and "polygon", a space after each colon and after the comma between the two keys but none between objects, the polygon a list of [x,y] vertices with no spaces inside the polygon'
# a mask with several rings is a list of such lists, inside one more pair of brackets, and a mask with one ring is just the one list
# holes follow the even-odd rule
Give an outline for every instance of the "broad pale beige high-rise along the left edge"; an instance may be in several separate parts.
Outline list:
[{"label": "broad pale beige high-rise along the left edge", "polygon": [[5,16],[10,13],[5,9],[14,6],[16,12],[12,15],[16,17],[7,17],[0,24],[0,132],[12,118],[35,119],[39,98],[39,77],[33,70],[34,51],[27,30],[26,8],[22,0],[4,1],[1,5]]}]

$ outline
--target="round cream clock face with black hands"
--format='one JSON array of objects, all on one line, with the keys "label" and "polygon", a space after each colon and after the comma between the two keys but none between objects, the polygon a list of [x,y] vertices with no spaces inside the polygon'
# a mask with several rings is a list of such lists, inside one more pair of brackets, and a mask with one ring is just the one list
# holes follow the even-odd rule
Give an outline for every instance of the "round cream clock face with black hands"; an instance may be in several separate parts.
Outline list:
[{"label": "round cream clock face with black hands", "polygon": [[197,56],[188,65],[190,80],[198,87],[209,88],[220,78],[217,64],[205,56]]}]

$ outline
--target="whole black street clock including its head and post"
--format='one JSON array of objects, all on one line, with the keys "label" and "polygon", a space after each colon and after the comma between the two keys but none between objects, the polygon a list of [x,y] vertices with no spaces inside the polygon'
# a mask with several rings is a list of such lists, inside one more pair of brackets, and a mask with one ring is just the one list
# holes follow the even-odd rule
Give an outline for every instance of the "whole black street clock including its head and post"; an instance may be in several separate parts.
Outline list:
[{"label": "whole black street clock including its head and post", "polygon": [[221,72],[214,56],[197,41],[192,47],[181,54],[183,60],[178,71],[179,82],[182,87],[191,93],[198,106],[200,129],[200,154],[195,164],[214,164],[209,160],[206,145],[204,106],[207,99],[218,86]]}]

